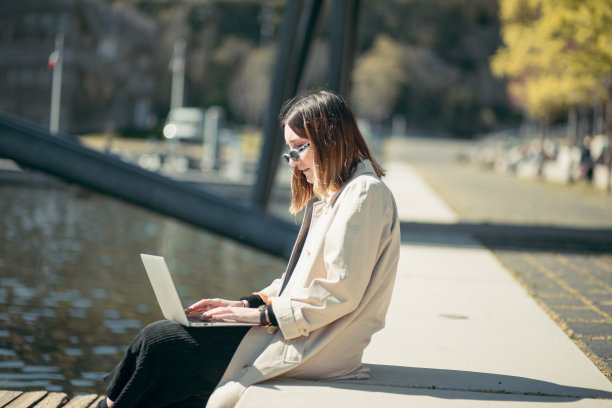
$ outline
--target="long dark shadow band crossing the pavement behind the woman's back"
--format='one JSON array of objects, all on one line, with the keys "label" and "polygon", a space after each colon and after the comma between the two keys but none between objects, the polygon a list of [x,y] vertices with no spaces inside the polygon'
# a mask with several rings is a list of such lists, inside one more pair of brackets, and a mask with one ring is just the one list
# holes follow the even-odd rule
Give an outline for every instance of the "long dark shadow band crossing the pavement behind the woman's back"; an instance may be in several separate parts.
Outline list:
[{"label": "long dark shadow band crossing the pavement behind the woman's back", "polygon": [[[402,222],[402,243],[536,252],[612,254],[612,229],[494,223]],[[475,241],[475,238],[478,241]]]}]

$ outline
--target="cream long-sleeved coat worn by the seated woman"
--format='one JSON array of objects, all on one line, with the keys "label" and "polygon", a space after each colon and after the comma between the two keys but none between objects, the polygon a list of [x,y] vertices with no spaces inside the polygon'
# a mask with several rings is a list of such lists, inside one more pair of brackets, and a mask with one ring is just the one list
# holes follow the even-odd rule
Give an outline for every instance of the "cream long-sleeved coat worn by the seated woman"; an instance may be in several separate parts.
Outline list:
[{"label": "cream long-sleeved coat worn by the seated woman", "polygon": [[279,327],[249,330],[207,408],[274,377],[368,378],[361,357],[384,327],[399,247],[393,195],[364,160],[333,198],[306,206],[285,274],[261,291]]}]

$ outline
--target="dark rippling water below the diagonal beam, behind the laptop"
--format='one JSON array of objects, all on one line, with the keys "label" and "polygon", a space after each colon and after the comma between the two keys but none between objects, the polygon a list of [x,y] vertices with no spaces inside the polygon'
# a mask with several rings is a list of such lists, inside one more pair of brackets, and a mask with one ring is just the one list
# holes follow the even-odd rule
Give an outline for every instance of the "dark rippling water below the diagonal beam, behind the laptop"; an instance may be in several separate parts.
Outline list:
[{"label": "dark rippling water below the diagonal beam, behind the laptop", "polygon": [[0,178],[0,389],[102,393],[138,330],[162,319],[139,254],[179,294],[237,299],[285,260],[61,183]]}]

